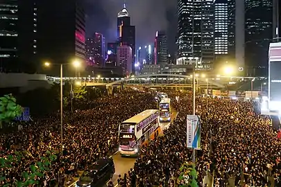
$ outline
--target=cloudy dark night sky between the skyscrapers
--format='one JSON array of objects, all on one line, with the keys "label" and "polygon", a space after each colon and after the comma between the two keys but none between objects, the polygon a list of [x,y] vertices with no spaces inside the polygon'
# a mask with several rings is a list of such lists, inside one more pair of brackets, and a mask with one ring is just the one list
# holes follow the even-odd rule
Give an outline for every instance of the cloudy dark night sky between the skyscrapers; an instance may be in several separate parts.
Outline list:
[{"label": "cloudy dark night sky between the skyscrapers", "polygon": [[[105,42],[114,42],[117,35],[117,13],[124,0],[83,0],[87,21],[87,36],[103,33]],[[156,30],[166,30],[169,53],[176,52],[176,0],[126,0],[131,24],[136,26],[136,48],[153,44]]]}]

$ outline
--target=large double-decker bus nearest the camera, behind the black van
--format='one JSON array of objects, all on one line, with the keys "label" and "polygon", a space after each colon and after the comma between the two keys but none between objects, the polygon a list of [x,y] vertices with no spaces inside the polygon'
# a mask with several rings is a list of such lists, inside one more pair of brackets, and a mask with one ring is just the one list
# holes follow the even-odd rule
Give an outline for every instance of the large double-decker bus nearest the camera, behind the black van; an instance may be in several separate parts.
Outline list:
[{"label": "large double-decker bus nearest the camera, behind the black van", "polygon": [[159,111],[147,109],[119,125],[121,157],[137,157],[142,144],[157,130]]}]

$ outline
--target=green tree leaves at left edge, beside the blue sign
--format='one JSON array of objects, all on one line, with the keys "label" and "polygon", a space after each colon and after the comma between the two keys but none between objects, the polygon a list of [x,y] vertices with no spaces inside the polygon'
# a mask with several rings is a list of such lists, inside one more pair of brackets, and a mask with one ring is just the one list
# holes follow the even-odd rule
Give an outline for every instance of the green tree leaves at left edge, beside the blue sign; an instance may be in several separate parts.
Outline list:
[{"label": "green tree leaves at left edge, beside the blue sign", "polygon": [[17,116],[21,116],[23,109],[20,105],[17,105],[17,100],[12,94],[4,95],[0,98],[0,127],[2,123],[10,123]]}]

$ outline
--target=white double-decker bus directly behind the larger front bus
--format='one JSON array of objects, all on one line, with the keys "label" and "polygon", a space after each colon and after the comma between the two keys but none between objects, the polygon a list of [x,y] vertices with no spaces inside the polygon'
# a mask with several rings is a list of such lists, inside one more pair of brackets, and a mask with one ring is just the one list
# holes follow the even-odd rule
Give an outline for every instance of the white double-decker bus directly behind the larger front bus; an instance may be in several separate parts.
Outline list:
[{"label": "white double-decker bus directly behind the larger front bus", "polygon": [[163,98],[159,103],[159,121],[170,122],[171,121],[171,99]]}]

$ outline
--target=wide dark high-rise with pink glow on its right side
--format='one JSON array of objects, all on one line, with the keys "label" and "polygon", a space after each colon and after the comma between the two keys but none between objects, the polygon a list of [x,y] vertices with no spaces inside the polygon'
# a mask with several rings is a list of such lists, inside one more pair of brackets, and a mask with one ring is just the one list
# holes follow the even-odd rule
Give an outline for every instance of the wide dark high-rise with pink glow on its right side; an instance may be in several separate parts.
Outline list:
[{"label": "wide dark high-rise with pink glow on its right side", "polygon": [[[19,58],[22,62],[32,62],[37,69],[46,61],[85,62],[85,12],[80,1],[18,2]],[[65,73],[73,75],[73,67],[66,68]]]}]

